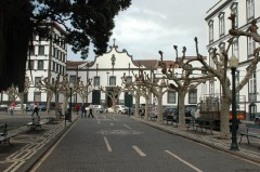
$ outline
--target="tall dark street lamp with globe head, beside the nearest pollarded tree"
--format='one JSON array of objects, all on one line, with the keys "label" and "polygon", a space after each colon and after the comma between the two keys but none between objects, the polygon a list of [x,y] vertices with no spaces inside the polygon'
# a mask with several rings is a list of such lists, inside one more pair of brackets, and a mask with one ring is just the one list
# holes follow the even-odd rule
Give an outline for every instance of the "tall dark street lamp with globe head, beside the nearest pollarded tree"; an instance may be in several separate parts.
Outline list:
[{"label": "tall dark street lamp with globe head, beside the nearest pollarded tree", "polygon": [[232,143],[231,143],[231,150],[239,150],[237,144],[237,119],[236,119],[236,80],[235,80],[235,71],[238,66],[238,58],[234,55],[231,56],[230,61],[231,74],[232,74]]}]

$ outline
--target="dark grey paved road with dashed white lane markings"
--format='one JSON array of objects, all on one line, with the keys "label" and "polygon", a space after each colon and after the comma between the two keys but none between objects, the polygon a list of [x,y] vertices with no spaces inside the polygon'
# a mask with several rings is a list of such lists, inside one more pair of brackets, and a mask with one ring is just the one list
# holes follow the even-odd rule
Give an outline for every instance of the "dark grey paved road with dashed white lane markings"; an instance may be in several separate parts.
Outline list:
[{"label": "dark grey paved road with dashed white lane markings", "polygon": [[260,166],[125,116],[80,118],[37,172],[256,172]]}]

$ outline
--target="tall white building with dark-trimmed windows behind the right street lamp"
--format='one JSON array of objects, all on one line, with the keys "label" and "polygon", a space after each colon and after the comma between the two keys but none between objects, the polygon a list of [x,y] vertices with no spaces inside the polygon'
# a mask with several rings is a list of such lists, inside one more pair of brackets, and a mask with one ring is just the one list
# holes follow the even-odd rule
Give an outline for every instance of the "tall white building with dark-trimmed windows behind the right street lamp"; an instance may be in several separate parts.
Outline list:
[{"label": "tall white building with dark-trimmed windows behind the right street lamp", "polygon": [[[227,17],[235,14],[234,27],[239,30],[247,30],[252,19],[257,21],[260,27],[260,0],[220,0],[206,13],[205,21],[207,23],[207,49],[209,51],[209,64],[213,65],[210,56],[210,51],[214,48],[221,52],[227,47],[227,40],[231,38],[229,30],[232,28],[232,23]],[[247,67],[252,59],[253,50],[259,45],[250,37],[236,37],[233,39],[233,44],[229,51],[229,56],[235,55],[239,59],[239,65],[236,70],[236,83],[239,83],[246,75]],[[237,101],[245,97],[247,119],[251,120],[256,114],[260,113],[260,80],[257,76],[260,75],[260,65],[258,64],[249,82],[237,94]],[[230,72],[229,72],[230,74]],[[220,94],[221,89],[218,80],[211,80],[209,83],[208,94]]]}]

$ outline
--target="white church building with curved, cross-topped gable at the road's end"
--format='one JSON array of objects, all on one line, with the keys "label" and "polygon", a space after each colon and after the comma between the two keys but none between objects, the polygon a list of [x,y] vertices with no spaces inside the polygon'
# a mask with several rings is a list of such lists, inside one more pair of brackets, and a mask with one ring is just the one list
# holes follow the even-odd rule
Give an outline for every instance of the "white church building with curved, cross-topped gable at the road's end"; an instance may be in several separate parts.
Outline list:
[{"label": "white church building with curved, cross-topped gable at the road's end", "polygon": [[[158,55],[159,58],[159,55]],[[172,61],[165,61],[166,63],[173,63]],[[162,78],[161,68],[158,66],[159,59],[134,59],[132,55],[128,53],[126,49],[121,51],[115,43],[109,47],[109,50],[101,55],[96,56],[93,62],[67,62],[67,74],[70,82],[75,82],[76,78],[80,77],[83,83],[87,83],[88,79],[92,79],[92,92],[89,94],[87,102],[89,104],[104,105],[105,107],[112,106],[112,102],[105,92],[102,92],[100,88],[109,91],[115,87],[121,87],[121,77],[123,74],[128,80],[134,81],[134,75],[139,74],[142,69],[146,74],[155,74],[155,78]],[[179,69],[180,70],[180,69]],[[176,70],[178,72],[178,69]],[[181,74],[181,70],[179,71]],[[171,81],[167,81],[170,83]],[[206,84],[200,84],[197,88],[196,93],[188,93],[186,95],[185,104],[196,105],[199,102],[199,95],[206,94]],[[122,92],[118,97],[117,104],[125,105],[127,102],[127,92]],[[195,100],[194,100],[195,97]],[[156,98],[151,95],[151,104],[156,104]],[[78,95],[74,95],[74,103],[81,103],[81,98]],[[132,104],[134,105],[134,98]],[[145,104],[144,97],[140,98],[140,104]],[[164,106],[178,105],[178,93],[176,91],[168,91],[162,96]]]}]

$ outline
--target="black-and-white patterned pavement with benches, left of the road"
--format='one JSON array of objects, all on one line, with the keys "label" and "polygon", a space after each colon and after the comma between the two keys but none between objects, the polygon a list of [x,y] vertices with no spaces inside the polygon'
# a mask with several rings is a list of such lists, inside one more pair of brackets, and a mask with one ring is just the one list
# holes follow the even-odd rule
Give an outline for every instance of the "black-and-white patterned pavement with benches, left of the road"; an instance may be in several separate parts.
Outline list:
[{"label": "black-and-white patterned pavement with benches, left of the road", "polygon": [[[31,111],[22,114],[15,111],[14,116],[0,111],[0,124],[8,123],[11,128],[9,133],[18,133],[10,142],[13,146],[0,144],[0,171],[1,172],[25,172],[47,153],[50,147],[73,125],[78,119],[77,115],[72,116],[73,122],[58,120],[57,123],[47,123],[42,130],[31,131],[25,123],[31,121]],[[55,117],[55,111],[40,111],[40,118]]]}]

